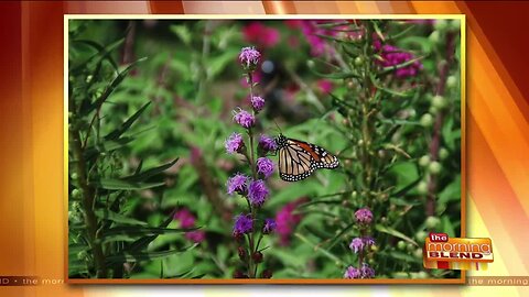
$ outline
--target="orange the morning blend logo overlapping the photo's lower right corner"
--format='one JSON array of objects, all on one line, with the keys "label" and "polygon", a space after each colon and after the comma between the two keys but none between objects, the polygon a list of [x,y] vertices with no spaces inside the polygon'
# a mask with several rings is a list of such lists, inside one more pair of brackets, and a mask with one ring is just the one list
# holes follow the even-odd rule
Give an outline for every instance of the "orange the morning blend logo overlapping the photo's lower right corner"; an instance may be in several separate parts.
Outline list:
[{"label": "orange the morning blend logo overlapping the photo's lower right corner", "polygon": [[425,268],[487,270],[494,261],[490,239],[449,238],[446,233],[430,233],[424,241]]}]

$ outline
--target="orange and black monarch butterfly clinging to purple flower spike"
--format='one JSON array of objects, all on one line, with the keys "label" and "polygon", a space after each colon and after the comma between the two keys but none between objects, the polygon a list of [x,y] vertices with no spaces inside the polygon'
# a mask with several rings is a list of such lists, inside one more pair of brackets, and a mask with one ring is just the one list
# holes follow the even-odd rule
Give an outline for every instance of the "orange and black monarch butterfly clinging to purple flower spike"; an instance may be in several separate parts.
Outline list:
[{"label": "orange and black monarch butterfly clinging to purple flower spike", "polygon": [[298,182],[309,177],[315,169],[338,167],[335,155],[325,148],[279,134],[276,139],[279,151],[279,176],[287,182]]}]

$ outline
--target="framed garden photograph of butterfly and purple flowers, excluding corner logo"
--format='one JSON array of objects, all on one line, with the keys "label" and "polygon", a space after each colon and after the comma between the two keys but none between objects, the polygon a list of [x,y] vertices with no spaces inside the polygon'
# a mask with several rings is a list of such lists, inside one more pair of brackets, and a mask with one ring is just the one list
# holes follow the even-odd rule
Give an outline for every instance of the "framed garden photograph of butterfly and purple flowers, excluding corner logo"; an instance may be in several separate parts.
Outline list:
[{"label": "framed garden photograph of butterfly and purple flowers, excluding corner logo", "polygon": [[64,21],[68,283],[464,283],[464,15]]}]

